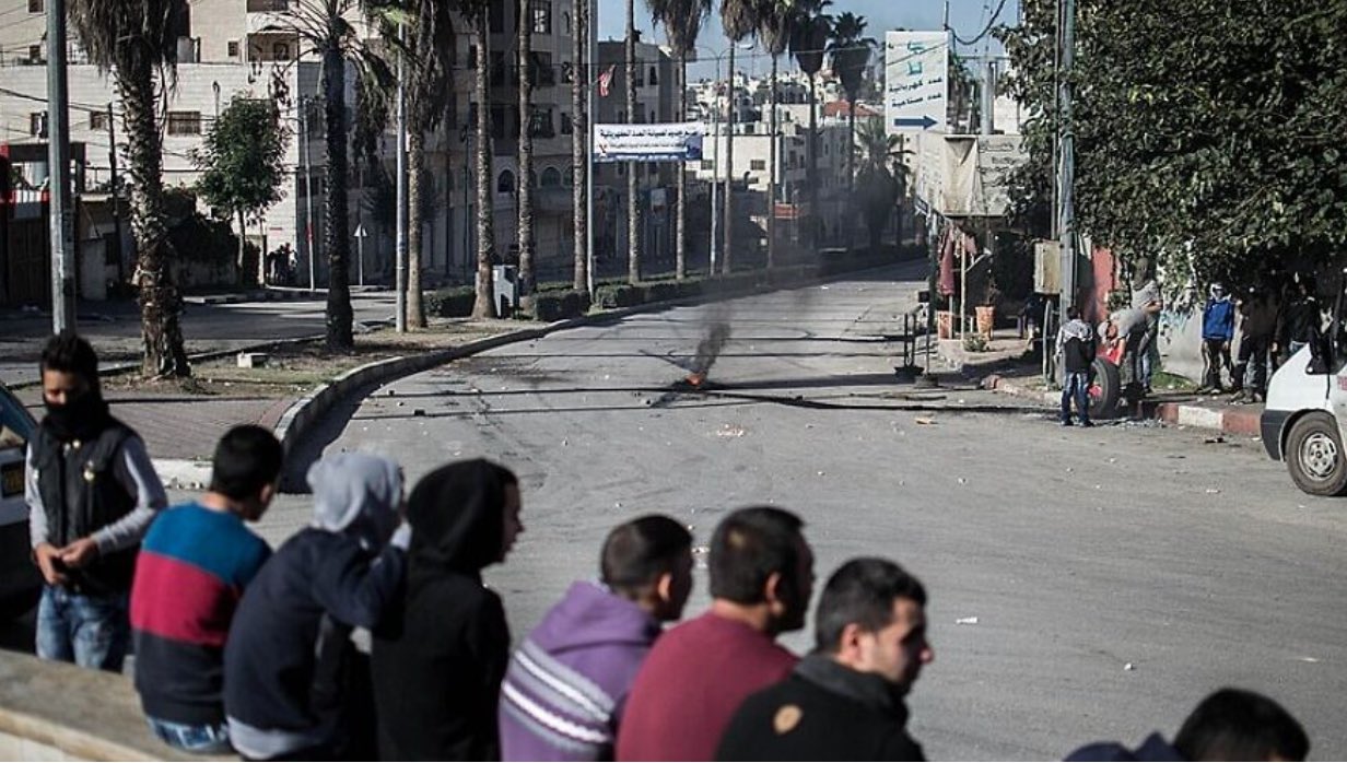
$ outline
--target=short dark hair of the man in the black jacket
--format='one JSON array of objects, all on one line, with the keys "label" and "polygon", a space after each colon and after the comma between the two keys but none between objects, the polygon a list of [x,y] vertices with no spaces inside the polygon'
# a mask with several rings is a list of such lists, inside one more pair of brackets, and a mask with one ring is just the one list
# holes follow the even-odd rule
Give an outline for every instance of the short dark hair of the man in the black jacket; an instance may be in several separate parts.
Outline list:
[{"label": "short dark hair of the man in the black jacket", "polygon": [[835,653],[842,631],[851,623],[866,632],[893,622],[893,600],[911,599],[925,607],[921,581],[886,558],[861,557],[828,577],[814,614],[814,642],[819,651]]}]

